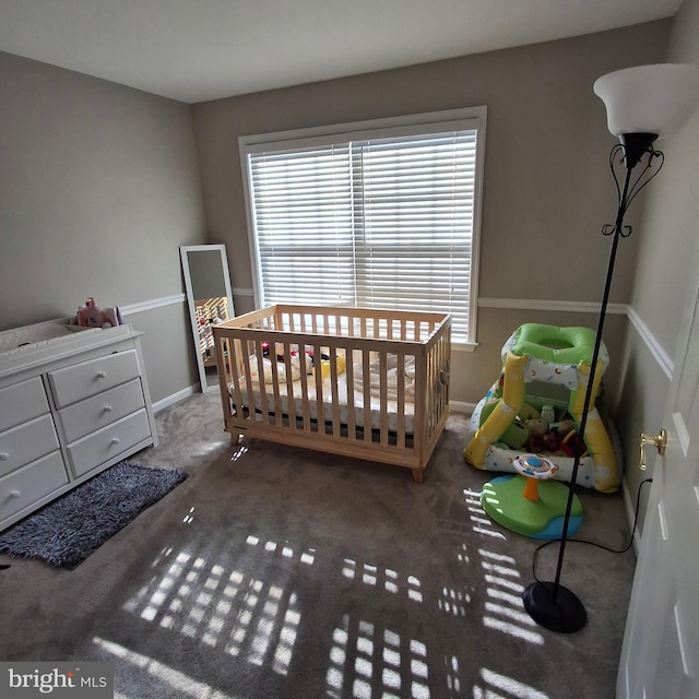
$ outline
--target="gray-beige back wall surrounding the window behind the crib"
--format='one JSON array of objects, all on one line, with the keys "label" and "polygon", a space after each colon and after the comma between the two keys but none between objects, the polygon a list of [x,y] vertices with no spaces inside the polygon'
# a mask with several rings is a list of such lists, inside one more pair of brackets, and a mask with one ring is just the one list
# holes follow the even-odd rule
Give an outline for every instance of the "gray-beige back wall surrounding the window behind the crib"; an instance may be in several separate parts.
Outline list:
[{"label": "gray-beige back wall surrounding the window behind the crib", "polygon": [[[600,229],[614,214],[614,140],[592,84],[611,70],[663,60],[667,29],[657,22],[194,105],[210,241],[227,245],[233,285],[251,287],[240,135],[487,105],[479,296],[597,301],[608,250]],[[630,298],[636,246],[627,241],[619,256],[613,301]],[[251,305],[236,296],[238,311]],[[453,354],[453,400],[485,394],[502,343],[530,320],[594,318],[481,308],[478,347]],[[620,344],[607,344],[620,353]]]}]

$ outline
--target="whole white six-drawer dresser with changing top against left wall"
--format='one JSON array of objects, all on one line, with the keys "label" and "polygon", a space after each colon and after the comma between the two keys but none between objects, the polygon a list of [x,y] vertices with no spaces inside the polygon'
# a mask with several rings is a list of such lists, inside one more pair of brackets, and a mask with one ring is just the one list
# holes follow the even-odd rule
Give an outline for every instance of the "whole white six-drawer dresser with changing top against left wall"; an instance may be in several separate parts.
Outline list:
[{"label": "whole white six-drawer dresser with changing top against left wall", "polygon": [[64,320],[0,332],[0,530],[157,445],[142,333]]}]

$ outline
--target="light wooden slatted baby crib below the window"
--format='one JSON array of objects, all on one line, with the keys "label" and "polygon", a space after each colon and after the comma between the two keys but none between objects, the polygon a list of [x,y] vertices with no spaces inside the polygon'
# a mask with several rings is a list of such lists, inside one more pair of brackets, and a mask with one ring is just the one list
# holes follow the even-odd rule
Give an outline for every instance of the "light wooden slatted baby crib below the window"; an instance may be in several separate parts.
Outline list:
[{"label": "light wooden slatted baby crib below the window", "polygon": [[213,333],[232,441],[405,466],[423,482],[449,415],[448,315],[276,305]]}]

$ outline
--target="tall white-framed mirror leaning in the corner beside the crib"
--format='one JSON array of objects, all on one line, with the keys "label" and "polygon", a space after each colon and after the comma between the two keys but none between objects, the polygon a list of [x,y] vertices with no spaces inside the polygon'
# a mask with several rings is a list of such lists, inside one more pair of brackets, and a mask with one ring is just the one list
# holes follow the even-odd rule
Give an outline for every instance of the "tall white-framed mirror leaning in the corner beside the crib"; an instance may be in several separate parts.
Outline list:
[{"label": "tall white-framed mirror leaning in the corner beside the crib", "polygon": [[212,325],[235,316],[225,245],[180,246],[201,390],[218,388]]}]

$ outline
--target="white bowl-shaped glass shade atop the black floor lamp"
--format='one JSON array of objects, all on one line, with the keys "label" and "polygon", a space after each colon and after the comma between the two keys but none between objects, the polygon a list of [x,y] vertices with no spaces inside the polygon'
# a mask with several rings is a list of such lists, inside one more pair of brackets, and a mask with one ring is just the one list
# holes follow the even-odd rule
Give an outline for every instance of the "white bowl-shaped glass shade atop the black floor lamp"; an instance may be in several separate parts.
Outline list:
[{"label": "white bowl-shaped glass shade atop the black floor lamp", "polygon": [[607,108],[607,126],[623,133],[679,131],[699,103],[699,66],[657,63],[625,68],[599,78],[593,90]]}]

